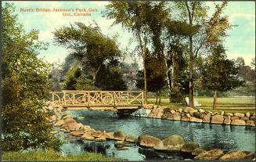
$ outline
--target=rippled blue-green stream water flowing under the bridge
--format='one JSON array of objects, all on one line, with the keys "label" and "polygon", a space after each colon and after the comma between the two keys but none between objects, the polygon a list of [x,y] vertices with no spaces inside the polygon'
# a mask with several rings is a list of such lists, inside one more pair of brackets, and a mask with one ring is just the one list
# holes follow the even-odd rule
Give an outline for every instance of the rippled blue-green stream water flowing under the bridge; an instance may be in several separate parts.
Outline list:
[{"label": "rippled blue-green stream water flowing under the bridge", "polygon": [[[153,135],[159,139],[169,135],[182,135],[186,142],[198,142],[204,149],[219,148],[225,152],[233,150],[255,150],[255,127],[222,124],[189,123],[152,118],[119,118],[114,112],[72,110],[76,121],[90,125],[100,131],[124,131],[127,135]],[[80,117],[85,117],[81,119]],[[186,159],[179,153],[160,153],[131,144],[128,150],[117,150],[113,141],[88,142],[61,133],[70,142],[62,149],[64,153],[95,152],[106,157],[121,157],[127,160]]]}]

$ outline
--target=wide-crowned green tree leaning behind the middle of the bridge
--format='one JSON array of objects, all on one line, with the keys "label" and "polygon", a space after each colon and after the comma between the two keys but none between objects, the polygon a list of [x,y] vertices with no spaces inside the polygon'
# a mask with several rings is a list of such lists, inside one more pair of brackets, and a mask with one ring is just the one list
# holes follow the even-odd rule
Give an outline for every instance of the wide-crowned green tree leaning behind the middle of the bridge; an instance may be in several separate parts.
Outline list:
[{"label": "wide-crowned green tree leaning behind the middle of the bridge", "polygon": [[94,26],[74,23],[53,32],[56,44],[72,50],[71,54],[80,60],[87,74],[92,76],[93,84],[103,63],[121,56],[116,38],[106,37],[96,23]]}]

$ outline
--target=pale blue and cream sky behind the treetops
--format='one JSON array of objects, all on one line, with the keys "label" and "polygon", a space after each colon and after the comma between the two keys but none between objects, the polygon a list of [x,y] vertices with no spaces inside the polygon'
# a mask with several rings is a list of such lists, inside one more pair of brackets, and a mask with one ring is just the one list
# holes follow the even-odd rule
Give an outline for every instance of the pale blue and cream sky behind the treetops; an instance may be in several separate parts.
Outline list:
[{"label": "pale blue and cream sky behind the treetops", "polygon": [[[2,2],[4,3],[4,2]],[[52,32],[59,27],[68,26],[70,23],[81,22],[92,23],[95,20],[101,28],[103,34],[113,36],[118,34],[118,44],[124,49],[132,38],[132,34],[125,31],[121,25],[111,27],[114,20],[107,20],[102,16],[105,5],[109,2],[87,1],[87,2],[13,2],[16,7],[15,13],[18,15],[20,23],[26,31],[33,29],[39,31],[39,40],[49,42],[49,48],[41,51],[38,57],[44,58],[49,63],[63,62],[69,54],[68,49],[59,47],[53,42]],[[214,2],[207,2],[210,7],[209,13],[214,12]],[[91,16],[63,16],[63,12],[24,12],[25,9],[87,9],[86,13]],[[92,12],[91,10],[95,12]],[[89,11],[90,10],[90,11]],[[83,13],[83,12],[80,12]],[[85,12],[84,12],[85,13]],[[211,14],[210,14],[211,15]],[[251,59],[255,57],[255,2],[229,2],[223,15],[229,16],[229,20],[236,27],[228,31],[229,37],[225,38],[225,49],[229,59],[236,59],[242,56],[246,65],[251,65]],[[130,46],[132,48],[132,46]],[[130,56],[124,59],[131,62]]]}]

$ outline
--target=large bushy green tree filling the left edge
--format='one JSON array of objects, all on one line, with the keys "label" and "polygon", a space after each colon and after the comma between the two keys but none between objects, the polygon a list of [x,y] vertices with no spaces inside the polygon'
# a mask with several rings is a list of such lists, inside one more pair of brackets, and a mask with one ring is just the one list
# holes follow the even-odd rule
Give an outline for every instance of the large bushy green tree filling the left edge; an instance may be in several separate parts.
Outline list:
[{"label": "large bushy green tree filling the left edge", "polygon": [[38,31],[25,33],[12,4],[2,7],[2,149],[59,150],[50,133],[50,114],[42,107],[49,96],[49,64],[37,58],[45,44]]}]

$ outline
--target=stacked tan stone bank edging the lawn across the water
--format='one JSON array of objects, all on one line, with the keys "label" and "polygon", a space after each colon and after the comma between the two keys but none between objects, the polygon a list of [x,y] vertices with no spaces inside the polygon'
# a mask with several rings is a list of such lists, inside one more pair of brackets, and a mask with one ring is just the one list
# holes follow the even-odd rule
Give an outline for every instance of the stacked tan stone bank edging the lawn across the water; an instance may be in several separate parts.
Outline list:
[{"label": "stacked tan stone bank edging the lawn across the water", "polygon": [[143,109],[132,113],[132,116],[197,123],[255,126],[255,113],[225,113],[224,111],[218,113],[190,107],[186,107],[183,110],[148,104]]}]

